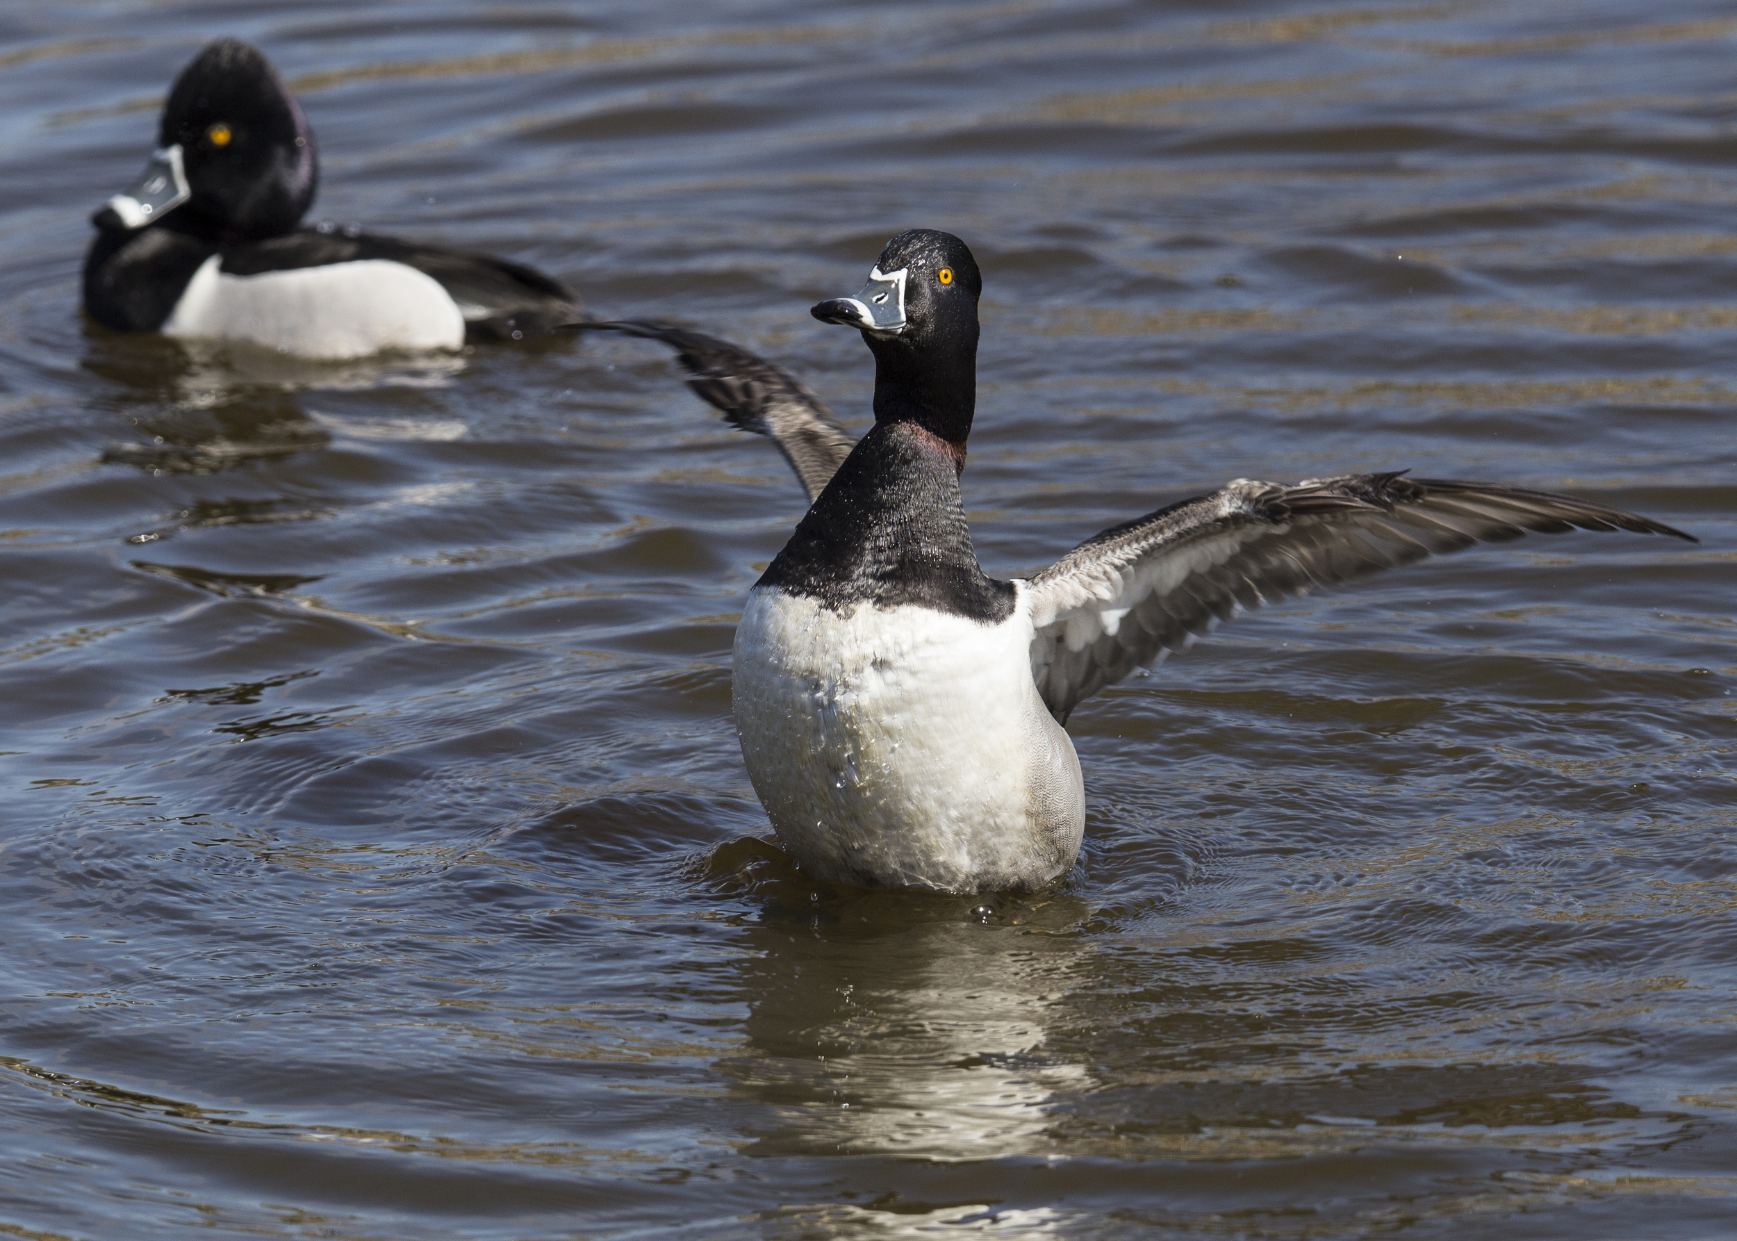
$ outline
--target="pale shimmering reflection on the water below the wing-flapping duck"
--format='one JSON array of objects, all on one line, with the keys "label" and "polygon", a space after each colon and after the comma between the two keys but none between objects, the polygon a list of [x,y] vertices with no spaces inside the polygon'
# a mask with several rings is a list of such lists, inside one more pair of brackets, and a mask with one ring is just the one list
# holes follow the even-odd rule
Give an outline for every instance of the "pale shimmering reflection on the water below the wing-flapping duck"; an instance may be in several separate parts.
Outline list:
[{"label": "pale shimmering reflection on the water below the wing-flapping duck", "polygon": [[736,966],[747,1053],[719,1065],[764,1109],[750,1154],[1042,1149],[1087,1081],[1047,1032],[1089,954],[1068,933],[1084,902],[816,885],[754,840],[709,860],[766,902]]}]

